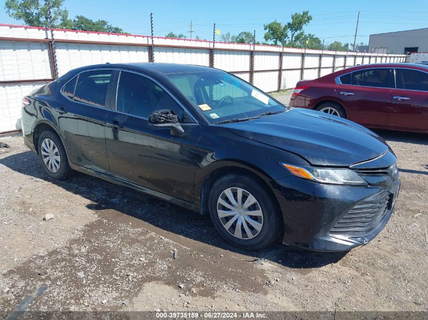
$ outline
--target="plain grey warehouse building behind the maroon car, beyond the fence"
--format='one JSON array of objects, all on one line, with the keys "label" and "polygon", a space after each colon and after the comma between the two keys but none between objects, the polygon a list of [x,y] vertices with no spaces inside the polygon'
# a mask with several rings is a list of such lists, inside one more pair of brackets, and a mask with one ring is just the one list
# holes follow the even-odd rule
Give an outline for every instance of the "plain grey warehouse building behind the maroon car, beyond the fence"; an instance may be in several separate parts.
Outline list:
[{"label": "plain grey warehouse building behind the maroon car, beyond the fence", "polygon": [[428,28],[371,34],[368,52],[400,55],[428,52]]}]

